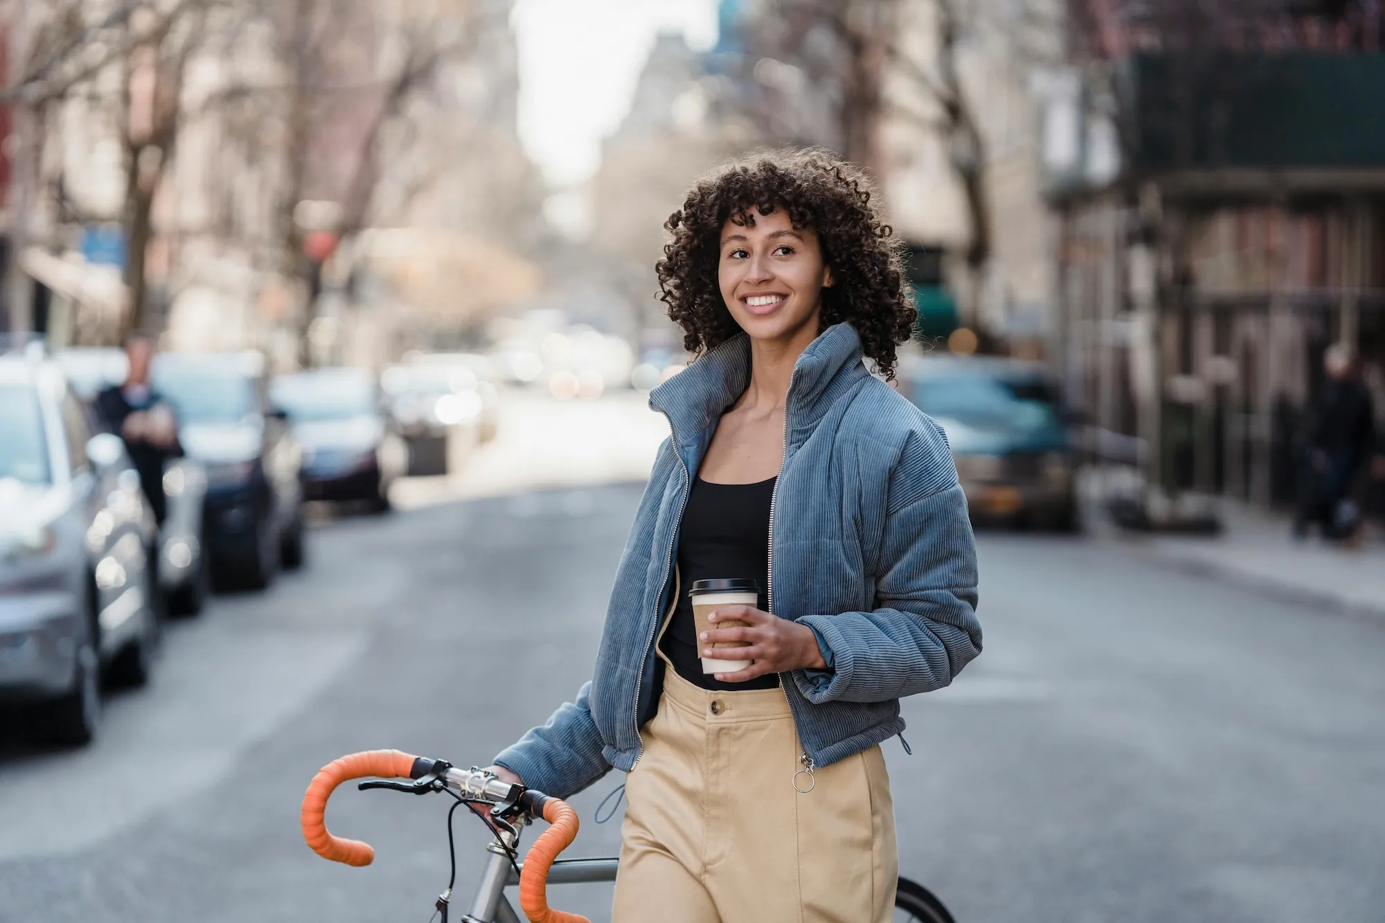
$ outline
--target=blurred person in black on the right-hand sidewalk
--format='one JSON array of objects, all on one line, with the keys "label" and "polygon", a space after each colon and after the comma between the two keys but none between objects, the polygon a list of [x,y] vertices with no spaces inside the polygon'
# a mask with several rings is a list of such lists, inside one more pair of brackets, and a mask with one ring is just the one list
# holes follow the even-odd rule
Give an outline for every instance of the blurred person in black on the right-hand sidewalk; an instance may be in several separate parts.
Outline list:
[{"label": "blurred person in black on the right-hand sidewalk", "polygon": [[1325,538],[1346,539],[1360,524],[1352,488],[1374,452],[1375,417],[1350,346],[1332,344],[1323,353],[1323,364],[1327,383],[1309,409],[1303,432],[1303,477],[1294,535],[1303,538],[1319,525]]}]

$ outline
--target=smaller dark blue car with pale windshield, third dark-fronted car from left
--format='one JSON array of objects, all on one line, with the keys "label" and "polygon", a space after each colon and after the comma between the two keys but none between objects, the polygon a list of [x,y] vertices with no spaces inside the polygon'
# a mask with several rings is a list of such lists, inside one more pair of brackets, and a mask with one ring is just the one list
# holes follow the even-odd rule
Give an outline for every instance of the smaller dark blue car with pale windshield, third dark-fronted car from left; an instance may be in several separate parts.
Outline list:
[{"label": "smaller dark blue car with pale windshield, third dark-fronted car from left", "polygon": [[302,446],[303,496],[364,500],[389,509],[389,485],[407,449],[379,409],[375,380],[361,369],[316,369],[270,384],[270,403],[288,414]]}]

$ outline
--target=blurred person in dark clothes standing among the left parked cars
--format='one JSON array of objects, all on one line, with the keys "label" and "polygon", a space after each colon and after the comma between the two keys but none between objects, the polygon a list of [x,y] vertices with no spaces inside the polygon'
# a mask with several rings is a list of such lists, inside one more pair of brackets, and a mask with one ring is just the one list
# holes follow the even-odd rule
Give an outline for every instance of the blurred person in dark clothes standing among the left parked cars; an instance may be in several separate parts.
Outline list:
[{"label": "blurred person in dark clothes standing among the left parked cars", "polygon": [[125,340],[129,371],[125,381],[102,389],[96,396],[96,410],[107,430],[125,441],[140,486],[148,498],[154,518],[159,524],[168,513],[163,495],[163,464],[183,455],[177,439],[177,420],[173,410],[154,389],[150,364],[154,360],[154,338],[134,333]]}]

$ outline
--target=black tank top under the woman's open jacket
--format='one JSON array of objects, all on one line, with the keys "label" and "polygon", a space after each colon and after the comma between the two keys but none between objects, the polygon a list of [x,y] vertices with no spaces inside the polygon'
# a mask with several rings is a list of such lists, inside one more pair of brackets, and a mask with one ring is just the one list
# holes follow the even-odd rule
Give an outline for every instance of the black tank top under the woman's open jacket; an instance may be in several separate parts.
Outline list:
[{"label": "black tank top under the woman's open jacket", "polygon": [[702,657],[687,590],[692,581],[719,577],[753,579],[760,588],[756,608],[769,608],[770,502],[774,481],[712,484],[697,478],[683,511],[679,532],[679,600],[673,621],[663,632],[661,650],[679,676],[702,689],[774,689],[778,675],[767,674],[744,683],[719,682],[702,672]]}]

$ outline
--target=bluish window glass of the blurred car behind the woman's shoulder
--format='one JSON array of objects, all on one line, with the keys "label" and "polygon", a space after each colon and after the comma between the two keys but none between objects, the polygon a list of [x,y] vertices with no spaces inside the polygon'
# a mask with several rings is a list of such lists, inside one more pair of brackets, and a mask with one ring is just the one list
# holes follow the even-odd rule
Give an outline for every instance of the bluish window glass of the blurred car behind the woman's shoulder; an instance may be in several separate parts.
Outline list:
[{"label": "bluish window glass of the blurred car behind the woman's shoulder", "polygon": [[914,403],[932,417],[999,430],[1060,425],[1053,388],[1033,378],[949,376],[914,384]]}]

